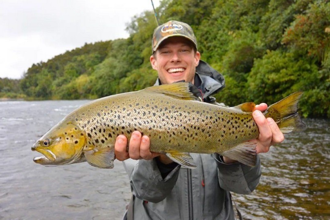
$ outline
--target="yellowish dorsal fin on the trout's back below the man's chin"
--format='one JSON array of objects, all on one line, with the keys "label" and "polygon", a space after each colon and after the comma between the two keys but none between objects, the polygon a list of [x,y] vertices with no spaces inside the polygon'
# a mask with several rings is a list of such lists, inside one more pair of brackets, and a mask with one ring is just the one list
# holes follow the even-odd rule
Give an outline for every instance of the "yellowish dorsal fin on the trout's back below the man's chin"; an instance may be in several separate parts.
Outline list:
[{"label": "yellowish dorsal fin on the trout's back below the man's chin", "polygon": [[176,82],[172,84],[156,85],[145,88],[146,91],[159,92],[167,96],[171,96],[181,100],[197,100],[189,90],[188,82]]}]

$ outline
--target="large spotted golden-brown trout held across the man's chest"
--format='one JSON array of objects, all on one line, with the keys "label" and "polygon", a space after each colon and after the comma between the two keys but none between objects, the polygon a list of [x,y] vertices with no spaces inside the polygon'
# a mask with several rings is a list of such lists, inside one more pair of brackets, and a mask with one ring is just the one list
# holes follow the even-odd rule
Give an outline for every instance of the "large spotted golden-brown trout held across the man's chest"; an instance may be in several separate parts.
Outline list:
[{"label": "large spotted golden-brown trout held across the man's chest", "polygon": [[[264,112],[283,133],[301,131],[297,113],[301,92],[271,105]],[[140,131],[150,138],[150,151],[165,153],[188,168],[196,167],[189,152],[219,153],[254,166],[259,136],[252,118],[255,104],[223,107],[204,103],[190,93],[188,83],[152,86],[100,98],[74,110],[50,129],[32,150],[44,156],[34,162],[57,166],[87,161],[98,168],[114,167],[118,135]]]}]

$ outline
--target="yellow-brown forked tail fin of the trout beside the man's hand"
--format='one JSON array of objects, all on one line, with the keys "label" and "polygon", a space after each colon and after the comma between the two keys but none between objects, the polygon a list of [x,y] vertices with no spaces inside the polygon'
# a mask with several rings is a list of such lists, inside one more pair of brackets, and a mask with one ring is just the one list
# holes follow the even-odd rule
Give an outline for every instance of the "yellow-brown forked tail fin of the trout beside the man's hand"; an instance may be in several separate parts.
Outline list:
[{"label": "yellow-brown forked tail fin of the trout beside the man's hand", "polygon": [[298,102],[302,94],[302,92],[292,93],[281,101],[270,105],[264,112],[266,117],[274,119],[283,134],[306,129],[305,123],[298,114]]}]

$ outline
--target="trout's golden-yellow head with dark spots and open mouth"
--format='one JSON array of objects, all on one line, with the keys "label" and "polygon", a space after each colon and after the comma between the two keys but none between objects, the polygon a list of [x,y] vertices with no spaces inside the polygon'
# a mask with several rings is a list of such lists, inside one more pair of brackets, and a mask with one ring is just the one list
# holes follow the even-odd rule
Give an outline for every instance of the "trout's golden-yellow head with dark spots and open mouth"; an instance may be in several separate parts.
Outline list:
[{"label": "trout's golden-yellow head with dark spots and open mouth", "polygon": [[60,122],[32,146],[32,151],[43,154],[41,157],[35,157],[33,161],[44,166],[82,162],[84,146],[86,146],[84,131],[72,122]]}]

